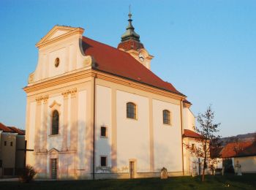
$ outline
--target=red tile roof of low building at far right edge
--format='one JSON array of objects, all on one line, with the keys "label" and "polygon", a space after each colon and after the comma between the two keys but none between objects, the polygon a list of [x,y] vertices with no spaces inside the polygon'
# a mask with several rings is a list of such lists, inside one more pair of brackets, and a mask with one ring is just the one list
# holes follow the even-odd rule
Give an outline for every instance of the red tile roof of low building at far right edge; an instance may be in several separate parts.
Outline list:
[{"label": "red tile roof of low building at far right edge", "polygon": [[220,152],[222,158],[255,156],[256,142],[230,142]]}]

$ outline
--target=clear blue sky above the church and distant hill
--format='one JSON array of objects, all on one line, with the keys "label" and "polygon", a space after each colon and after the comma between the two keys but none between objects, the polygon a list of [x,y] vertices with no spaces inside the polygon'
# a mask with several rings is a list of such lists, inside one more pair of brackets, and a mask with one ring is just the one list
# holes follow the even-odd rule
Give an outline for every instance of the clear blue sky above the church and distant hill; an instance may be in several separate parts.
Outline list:
[{"label": "clear blue sky above the church and distant hill", "polygon": [[116,47],[127,26],[154,59],[151,69],[188,96],[192,111],[209,104],[220,134],[256,131],[256,1],[0,1],[0,122],[25,128],[34,45],[56,24]]}]

